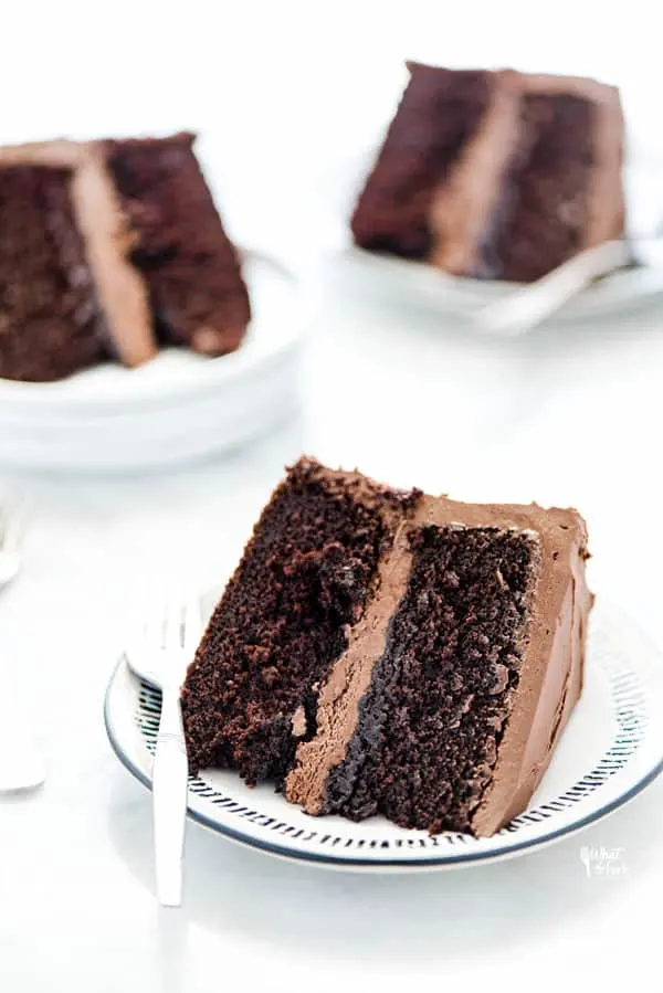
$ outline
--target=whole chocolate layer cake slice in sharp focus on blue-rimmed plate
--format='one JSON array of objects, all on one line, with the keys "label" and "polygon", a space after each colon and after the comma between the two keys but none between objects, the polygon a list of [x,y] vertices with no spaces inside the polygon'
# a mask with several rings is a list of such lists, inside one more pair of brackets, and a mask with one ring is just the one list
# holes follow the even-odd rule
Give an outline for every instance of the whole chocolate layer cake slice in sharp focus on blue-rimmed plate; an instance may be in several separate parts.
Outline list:
[{"label": "whole chocolate layer cake slice in sharp focus on blue-rimmed plate", "polygon": [[191,767],[311,814],[492,834],[582,685],[575,510],[402,493],[302,459],[257,522],[182,691]]}]

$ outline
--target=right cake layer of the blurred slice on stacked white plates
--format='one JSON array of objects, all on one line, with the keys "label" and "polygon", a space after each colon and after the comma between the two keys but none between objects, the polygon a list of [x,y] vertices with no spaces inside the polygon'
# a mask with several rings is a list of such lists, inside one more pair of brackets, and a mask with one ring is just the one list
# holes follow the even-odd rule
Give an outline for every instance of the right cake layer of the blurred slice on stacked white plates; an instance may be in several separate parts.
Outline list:
[{"label": "right cake layer of the blurred slice on stacked white plates", "polygon": [[210,356],[234,351],[251,311],[240,263],[192,151],[194,136],[105,141],[157,331]]}]

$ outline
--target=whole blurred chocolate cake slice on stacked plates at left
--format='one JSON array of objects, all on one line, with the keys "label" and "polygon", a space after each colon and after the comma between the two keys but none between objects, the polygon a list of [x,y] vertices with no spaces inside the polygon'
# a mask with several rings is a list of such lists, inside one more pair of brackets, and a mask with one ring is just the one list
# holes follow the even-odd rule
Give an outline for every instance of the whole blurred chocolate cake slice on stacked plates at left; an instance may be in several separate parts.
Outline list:
[{"label": "whole blurred chocolate cake slice on stacked plates at left", "polygon": [[240,346],[249,295],[193,140],[0,148],[0,377]]}]

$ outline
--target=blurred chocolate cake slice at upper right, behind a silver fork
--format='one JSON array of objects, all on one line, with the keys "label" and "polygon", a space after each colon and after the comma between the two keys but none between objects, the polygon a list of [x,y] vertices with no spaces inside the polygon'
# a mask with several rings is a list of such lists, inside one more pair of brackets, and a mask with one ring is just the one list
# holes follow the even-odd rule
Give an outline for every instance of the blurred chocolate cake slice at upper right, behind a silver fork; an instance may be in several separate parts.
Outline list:
[{"label": "blurred chocolate cake slice at upper right, behind a silver fork", "polygon": [[530,282],[624,232],[619,92],[436,68],[410,82],[351,221],[369,251]]}]

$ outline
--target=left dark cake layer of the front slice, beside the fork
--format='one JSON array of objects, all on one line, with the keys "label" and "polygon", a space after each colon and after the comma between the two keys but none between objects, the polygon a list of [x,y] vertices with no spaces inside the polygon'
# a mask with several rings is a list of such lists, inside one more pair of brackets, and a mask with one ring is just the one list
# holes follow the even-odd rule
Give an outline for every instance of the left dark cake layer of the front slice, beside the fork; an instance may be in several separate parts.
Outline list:
[{"label": "left dark cake layer of the front slice, beside the fork", "polygon": [[293,467],[189,669],[182,709],[192,769],[283,780],[297,742],[315,732],[319,686],[415,499],[307,459]]}]

